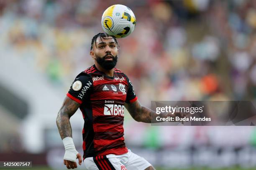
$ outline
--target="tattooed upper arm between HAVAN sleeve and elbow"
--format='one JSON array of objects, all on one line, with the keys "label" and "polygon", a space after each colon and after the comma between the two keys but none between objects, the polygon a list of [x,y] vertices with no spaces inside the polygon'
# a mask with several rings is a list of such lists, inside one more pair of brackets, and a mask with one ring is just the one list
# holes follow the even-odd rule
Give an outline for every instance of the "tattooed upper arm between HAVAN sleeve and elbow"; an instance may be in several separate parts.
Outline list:
[{"label": "tattooed upper arm between HAVAN sleeve and elbow", "polygon": [[69,97],[64,99],[64,102],[59,110],[59,114],[67,114],[69,117],[74,115],[77,109],[80,107],[80,104]]}]

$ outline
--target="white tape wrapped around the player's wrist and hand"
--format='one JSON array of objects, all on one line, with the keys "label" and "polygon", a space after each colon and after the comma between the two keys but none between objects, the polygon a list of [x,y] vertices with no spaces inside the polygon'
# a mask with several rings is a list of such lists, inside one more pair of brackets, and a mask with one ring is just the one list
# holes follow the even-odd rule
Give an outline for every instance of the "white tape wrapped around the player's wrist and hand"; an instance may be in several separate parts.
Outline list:
[{"label": "white tape wrapped around the player's wrist and hand", "polygon": [[66,151],[64,155],[64,160],[76,162],[78,152],[74,146],[73,139],[70,137],[66,137],[62,141]]}]

